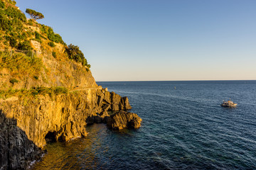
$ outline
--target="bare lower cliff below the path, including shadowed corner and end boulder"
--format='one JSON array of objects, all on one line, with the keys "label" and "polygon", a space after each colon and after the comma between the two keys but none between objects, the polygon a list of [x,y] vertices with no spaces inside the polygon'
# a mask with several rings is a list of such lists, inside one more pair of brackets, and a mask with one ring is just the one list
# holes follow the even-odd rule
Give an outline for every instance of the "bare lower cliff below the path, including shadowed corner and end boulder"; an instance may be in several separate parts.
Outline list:
[{"label": "bare lower cliff below the path, including shadowed corner and end boulder", "polygon": [[[86,125],[106,123],[113,130],[139,128],[142,121],[127,97],[106,89],[87,89],[29,101],[0,102],[0,169],[28,169],[40,160],[47,140],[86,137]],[[107,111],[115,111],[110,115]]]}]

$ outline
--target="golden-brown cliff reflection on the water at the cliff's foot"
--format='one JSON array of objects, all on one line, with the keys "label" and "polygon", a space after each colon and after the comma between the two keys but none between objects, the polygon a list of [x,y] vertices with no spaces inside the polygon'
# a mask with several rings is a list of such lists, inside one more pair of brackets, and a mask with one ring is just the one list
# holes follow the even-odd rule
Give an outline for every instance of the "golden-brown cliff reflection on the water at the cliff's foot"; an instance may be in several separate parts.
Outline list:
[{"label": "golden-brown cliff reflection on the water at the cliff's foot", "polygon": [[[108,147],[102,146],[100,137],[107,134],[103,124],[88,127],[90,133],[85,138],[70,142],[55,142],[46,145],[48,153],[42,162],[36,163],[33,169],[95,169],[100,160],[96,151],[107,152]],[[106,158],[107,159],[107,158]]]}]

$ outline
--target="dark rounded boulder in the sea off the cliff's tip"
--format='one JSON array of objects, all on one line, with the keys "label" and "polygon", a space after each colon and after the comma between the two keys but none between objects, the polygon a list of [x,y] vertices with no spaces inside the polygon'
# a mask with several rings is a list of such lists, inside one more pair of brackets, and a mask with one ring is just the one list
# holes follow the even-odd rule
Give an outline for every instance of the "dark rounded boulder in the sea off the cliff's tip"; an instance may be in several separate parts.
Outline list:
[{"label": "dark rounded boulder in the sea off the cliff's tip", "polygon": [[141,126],[142,118],[136,113],[119,111],[114,113],[107,120],[107,127],[113,130],[122,130],[124,128],[137,129]]}]

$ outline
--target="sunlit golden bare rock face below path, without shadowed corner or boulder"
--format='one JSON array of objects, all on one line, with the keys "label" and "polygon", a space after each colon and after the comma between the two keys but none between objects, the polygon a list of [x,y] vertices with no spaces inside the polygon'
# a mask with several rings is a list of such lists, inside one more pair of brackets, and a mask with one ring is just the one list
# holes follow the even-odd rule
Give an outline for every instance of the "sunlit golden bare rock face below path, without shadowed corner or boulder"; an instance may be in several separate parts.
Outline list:
[{"label": "sunlit golden bare rock face below path, without shadowed corner or boulder", "polygon": [[46,135],[51,140],[68,141],[74,137],[86,136],[85,125],[103,110],[119,111],[130,109],[129,101],[114,92],[102,89],[84,89],[58,96],[38,96],[2,100],[0,109],[6,118],[17,120],[29,140],[38,147],[46,145]]}]

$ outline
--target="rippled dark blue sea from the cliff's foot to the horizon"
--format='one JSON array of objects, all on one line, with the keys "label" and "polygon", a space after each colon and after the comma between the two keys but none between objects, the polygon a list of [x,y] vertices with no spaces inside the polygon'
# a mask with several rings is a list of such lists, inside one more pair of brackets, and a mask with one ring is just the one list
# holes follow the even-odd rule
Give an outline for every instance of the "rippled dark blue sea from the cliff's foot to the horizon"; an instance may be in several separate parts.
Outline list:
[{"label": "rippled dark blue sea from the cliff's foot to the horizon", "polygon": [[[256,169],[256,81],[97,84],[128,96],[142,127],[88,126],[85,138],[47,145],[33,169]],[[229,98],[237,108],[220,107]]]}]

